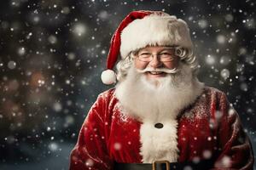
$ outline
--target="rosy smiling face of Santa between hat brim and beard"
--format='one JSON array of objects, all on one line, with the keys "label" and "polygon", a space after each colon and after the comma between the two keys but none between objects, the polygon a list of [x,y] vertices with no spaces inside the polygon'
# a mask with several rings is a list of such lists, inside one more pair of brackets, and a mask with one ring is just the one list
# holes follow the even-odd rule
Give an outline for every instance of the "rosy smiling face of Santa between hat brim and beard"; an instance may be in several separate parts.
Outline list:
[{"label": "rosy smiling face of Santa between hat brim and beard", "polygon": [[177,68],[178,57],[174,55],[175,49],[170,47],[146,47],[140,49],[134,65],[137,70],[145,70],[143,74],[147,79],[166,77],[167,73],[161,69],[173,70]]}]

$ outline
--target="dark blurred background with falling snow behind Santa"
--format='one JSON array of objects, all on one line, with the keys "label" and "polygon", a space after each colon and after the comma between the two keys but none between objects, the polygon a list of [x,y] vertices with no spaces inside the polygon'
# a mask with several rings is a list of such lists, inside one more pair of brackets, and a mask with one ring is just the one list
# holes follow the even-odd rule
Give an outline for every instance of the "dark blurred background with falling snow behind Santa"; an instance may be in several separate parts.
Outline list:
[{"label": "dark blurred background with falling snow behind Santa", "polygon": [[199,79],[228,95],[255,153],[256,2],[9,0],[0,6],[0,169],[67,169],[102,84],[110,38],[131,10],[188,22]]}]

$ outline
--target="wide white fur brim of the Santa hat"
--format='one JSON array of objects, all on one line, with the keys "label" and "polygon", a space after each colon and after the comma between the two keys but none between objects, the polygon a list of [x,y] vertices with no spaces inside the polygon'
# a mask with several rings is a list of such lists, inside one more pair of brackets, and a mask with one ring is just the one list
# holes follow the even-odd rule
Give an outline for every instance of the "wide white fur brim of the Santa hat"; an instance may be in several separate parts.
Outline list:
[{"label": "wide white fur brim of the Santa hat", "polygon": [[131,51],[146,46],[181,46],[193,51],[186,22],[174,15],[150,14],[131,22],[121,32],[120,54],[125,58]]}]

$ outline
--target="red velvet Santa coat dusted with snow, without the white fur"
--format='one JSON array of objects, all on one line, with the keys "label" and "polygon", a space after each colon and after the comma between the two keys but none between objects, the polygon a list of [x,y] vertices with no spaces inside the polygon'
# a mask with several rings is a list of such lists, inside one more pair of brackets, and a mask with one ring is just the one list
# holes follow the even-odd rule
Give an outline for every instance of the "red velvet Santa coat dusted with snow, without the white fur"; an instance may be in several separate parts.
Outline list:
[{"label": "red velvet Santa coat dusted with snow, without the white fur", "polygon": [[[113,169],[114,161],[143,162],[142,122],[122,114],[114,91],[100,94],[91,107],[71,153],[70,170]],[[224,93],[204,88],[177,122],[177,161],[211,159],[212,169],[253,169],[252,146]]]}]

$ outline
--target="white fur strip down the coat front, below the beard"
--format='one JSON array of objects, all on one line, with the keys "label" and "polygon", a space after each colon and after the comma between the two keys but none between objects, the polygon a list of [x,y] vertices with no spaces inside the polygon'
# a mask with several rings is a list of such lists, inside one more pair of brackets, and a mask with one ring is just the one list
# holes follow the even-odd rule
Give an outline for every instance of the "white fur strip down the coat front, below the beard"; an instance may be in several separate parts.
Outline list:
[{"label": "white fur strip down the coat front, below the beard", "polygon": [[[162,123],[162,128],[154,127],[155,123]],[[145,120],[140,129],[141,152],[143,163],[153,161],[177,161],[177,120],[160,120],[152,122]]]}]

